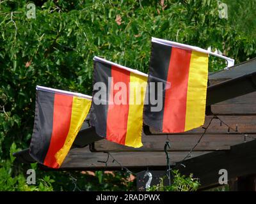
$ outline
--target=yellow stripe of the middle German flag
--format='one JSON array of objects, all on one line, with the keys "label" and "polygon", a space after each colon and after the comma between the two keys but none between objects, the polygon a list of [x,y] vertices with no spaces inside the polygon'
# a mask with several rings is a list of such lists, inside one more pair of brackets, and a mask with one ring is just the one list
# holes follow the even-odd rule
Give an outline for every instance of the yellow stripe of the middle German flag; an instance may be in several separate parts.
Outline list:
[{"label": "yellow stripe of the middle German flag", "polygon": [[130,74],[129,85],[129,114],[125,145],[141,147],[141,132],[143,126],[143,106],[147,89],[147,77]]}]

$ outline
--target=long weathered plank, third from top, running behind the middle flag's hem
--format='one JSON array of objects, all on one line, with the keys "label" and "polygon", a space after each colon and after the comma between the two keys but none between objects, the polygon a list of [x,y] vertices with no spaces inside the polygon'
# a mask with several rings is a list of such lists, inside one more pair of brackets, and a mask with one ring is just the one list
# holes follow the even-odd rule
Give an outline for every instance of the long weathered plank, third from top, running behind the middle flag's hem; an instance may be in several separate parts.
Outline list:
[{"label": "long weathered plank, third from top, running behind the middle flag's hem", "polygon": [[[256,135],[251,135],[255,136]],[[142,136],[143,147],[132,148],[108,140],[100,140],[93,143],[93,152],[163,152],[166,140],[170,142],[169,151],[189,151],[198,142],[200,135],[154,135]],[[247,138],[248,141],[253,140]],[[228,150],[230,146],[244,142],[244,136],[226,135],[205,135],[195,151]]]}]

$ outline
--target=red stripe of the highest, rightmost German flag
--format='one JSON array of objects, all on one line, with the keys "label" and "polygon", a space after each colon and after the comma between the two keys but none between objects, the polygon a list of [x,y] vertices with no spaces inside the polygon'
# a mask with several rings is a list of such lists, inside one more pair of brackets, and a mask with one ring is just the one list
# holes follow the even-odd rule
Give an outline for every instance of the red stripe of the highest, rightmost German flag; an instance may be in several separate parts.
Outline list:
[{"label": "red stripe of the highest, rightmost German flag", "polygon": [[164,99],[163,132],[179,133],[185,129],[191,50],[172,47]]}]

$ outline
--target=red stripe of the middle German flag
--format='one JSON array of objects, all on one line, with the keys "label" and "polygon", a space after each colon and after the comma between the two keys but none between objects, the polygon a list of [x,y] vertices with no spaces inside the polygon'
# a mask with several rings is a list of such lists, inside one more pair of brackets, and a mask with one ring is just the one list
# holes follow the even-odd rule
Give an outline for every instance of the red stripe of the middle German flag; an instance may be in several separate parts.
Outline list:
[{"label": "red stripe of the middle German flag", "polygon": [[[127,120],[129,113],[129,82],[130,72],[124,69],[111,67],[111,88],[109,93],[108,117],[107,117],[107,133],[106,138],[112,142],[125,144],[125,136],[127,131]],[[125,87],[114,87],[117,82],[124,83]],[[124,90],[125,89],[125,90]],[[126,92],[126,93],[125,93]],[[121,94],[122,93],[122,94]],[[116,94],[120,94],[119,99],[124,103],[116,104],[114,99],[118,98]],[[124,98],[122,98],[124,96]],[[125,97],[126,96],[126,97]]]}]

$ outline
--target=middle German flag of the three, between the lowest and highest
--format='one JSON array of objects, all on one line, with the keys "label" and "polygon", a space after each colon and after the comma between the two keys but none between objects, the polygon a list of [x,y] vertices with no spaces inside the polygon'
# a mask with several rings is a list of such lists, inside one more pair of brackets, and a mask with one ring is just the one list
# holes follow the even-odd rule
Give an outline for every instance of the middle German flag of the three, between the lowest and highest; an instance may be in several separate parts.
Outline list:
[{"label": "middle German flag of the three, between the lowest and highest", "polygon": [[111,142],[141,147],[147,75],[100,57],[93,60],[90,124]]}]

